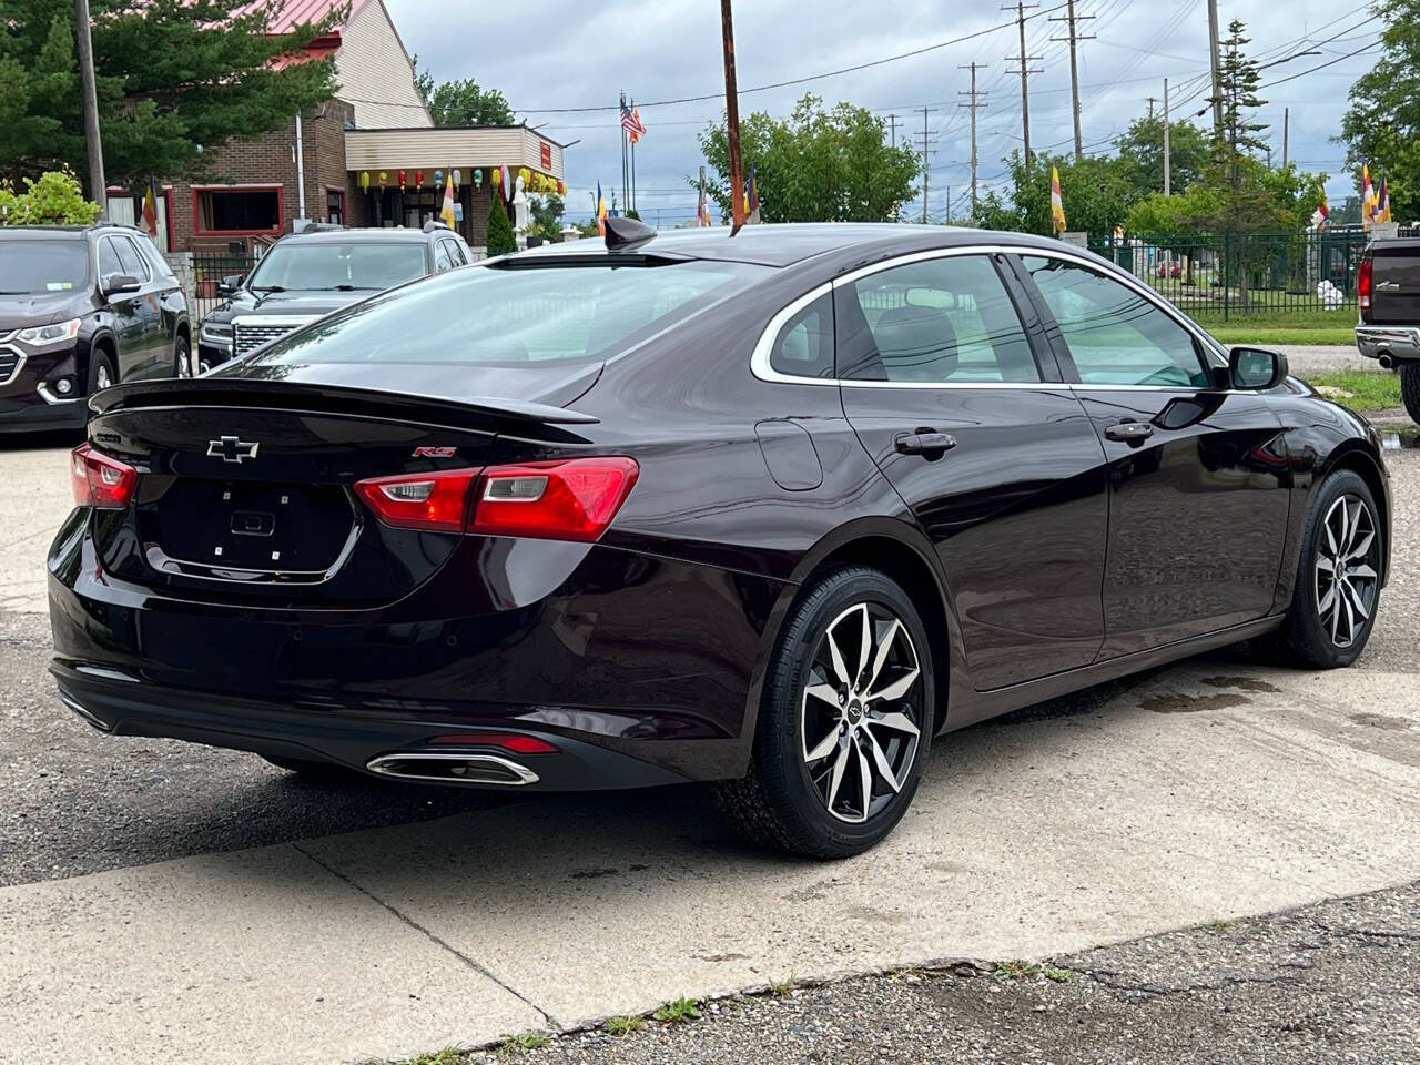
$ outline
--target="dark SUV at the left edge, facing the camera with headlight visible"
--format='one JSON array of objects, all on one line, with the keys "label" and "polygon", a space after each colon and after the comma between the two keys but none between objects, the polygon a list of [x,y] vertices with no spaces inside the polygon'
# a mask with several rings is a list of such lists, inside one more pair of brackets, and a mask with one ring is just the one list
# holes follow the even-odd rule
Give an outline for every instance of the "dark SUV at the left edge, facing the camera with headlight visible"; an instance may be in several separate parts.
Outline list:
[{"label": "dark SUV at the left edge, facing the camera with headlight visible", "polygon": [[82,426],[84,399],[192,373],[187,298],[131,226],[0,227],[0,430]]}]

